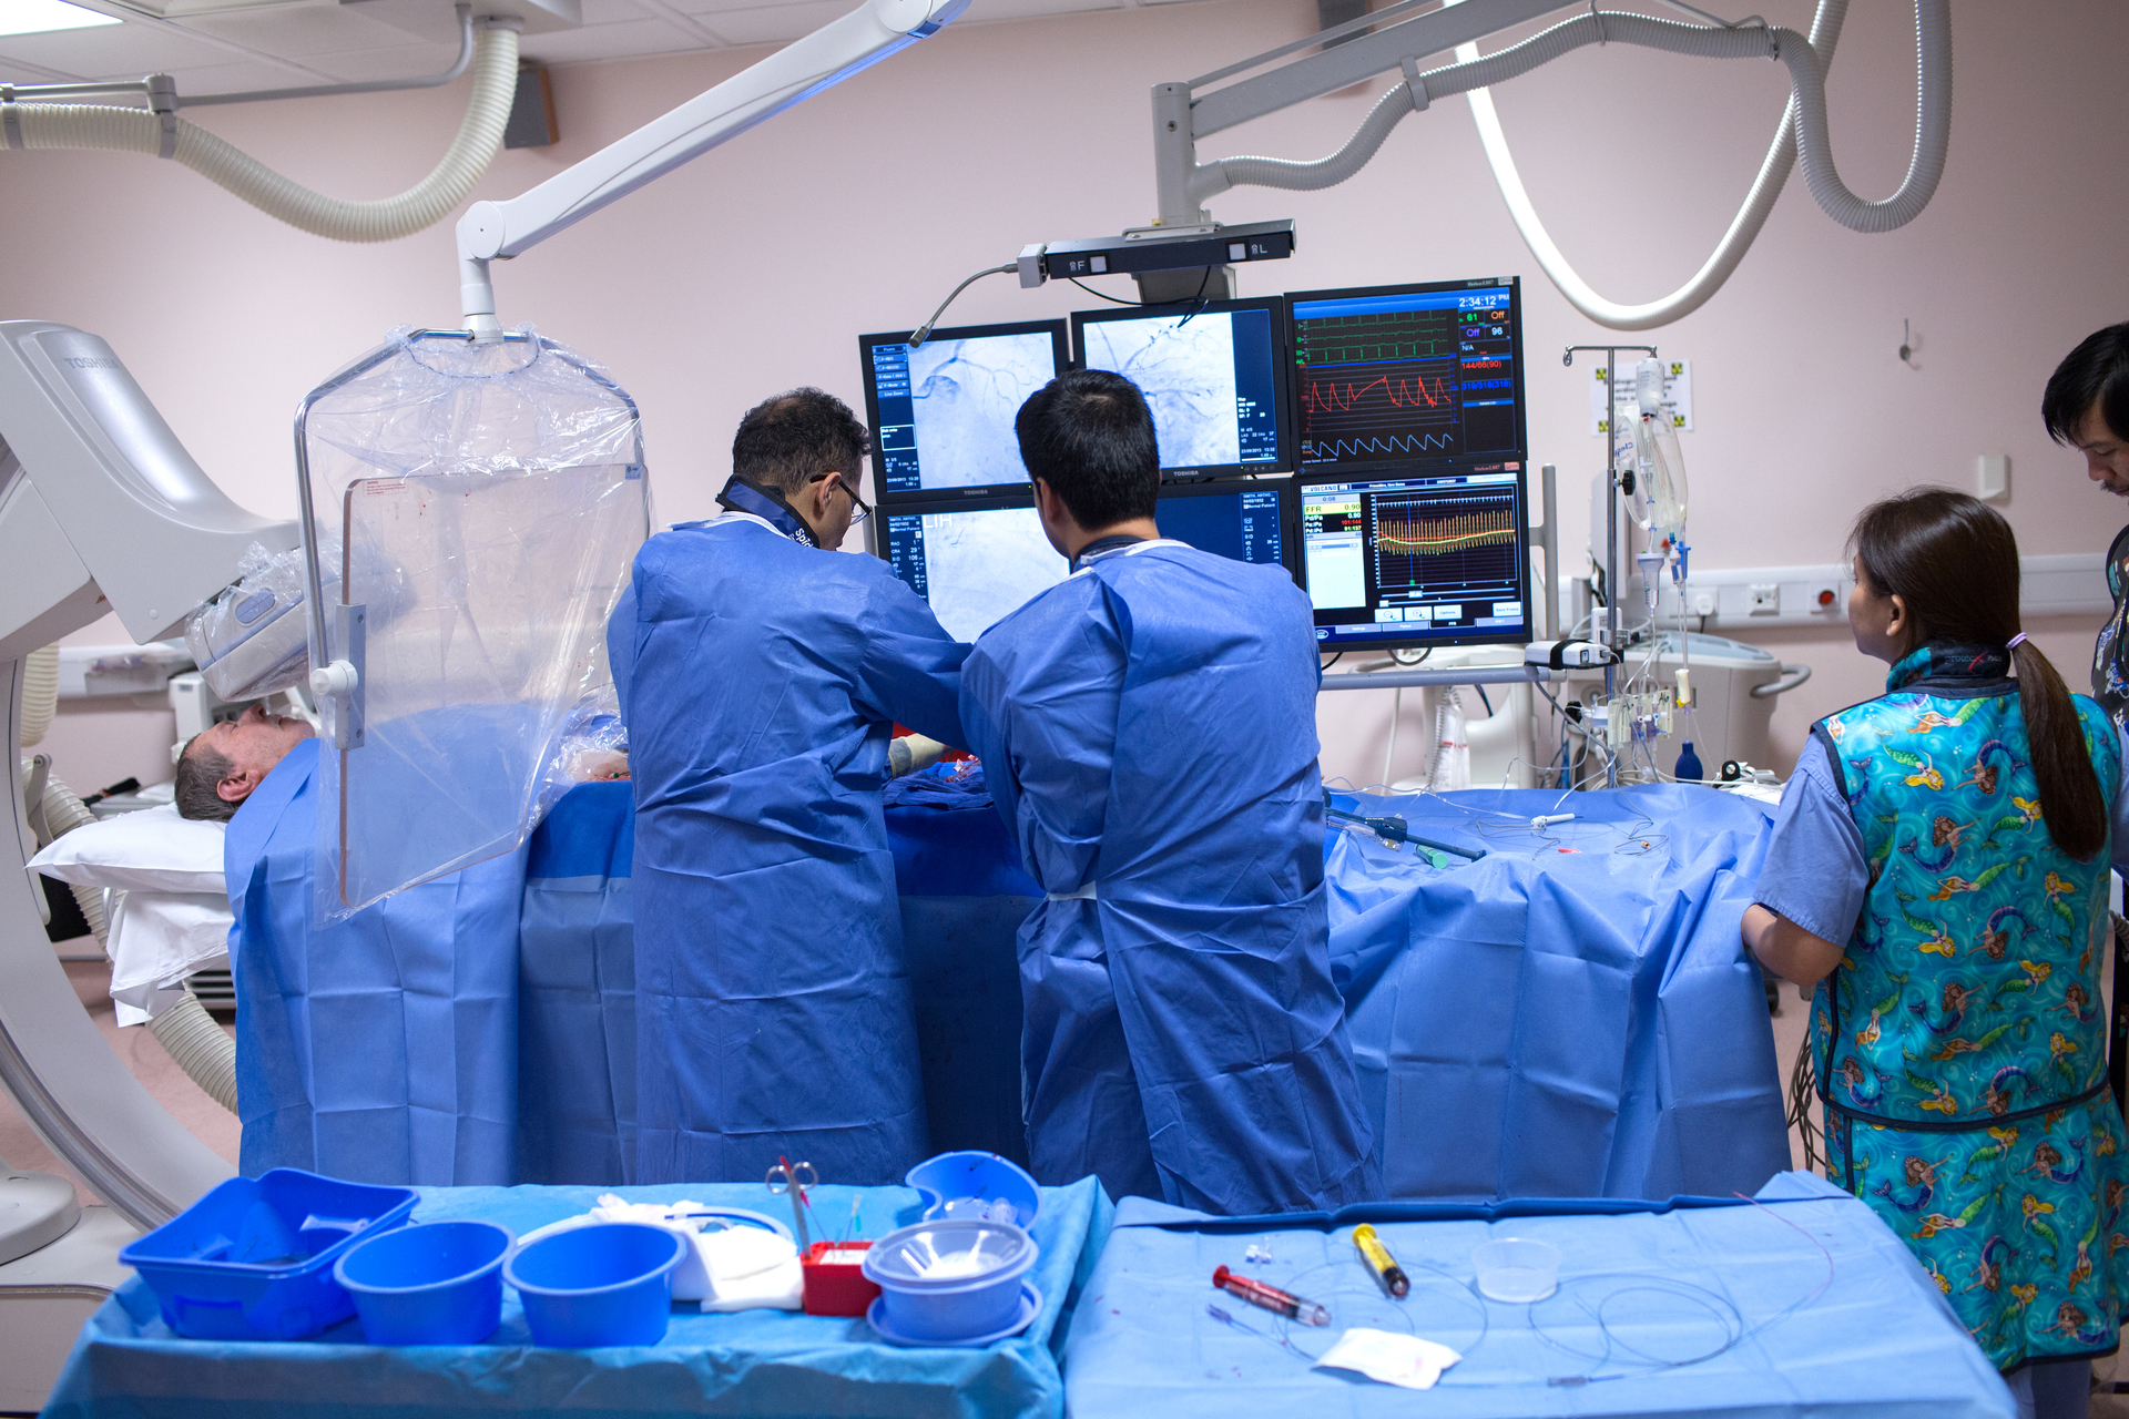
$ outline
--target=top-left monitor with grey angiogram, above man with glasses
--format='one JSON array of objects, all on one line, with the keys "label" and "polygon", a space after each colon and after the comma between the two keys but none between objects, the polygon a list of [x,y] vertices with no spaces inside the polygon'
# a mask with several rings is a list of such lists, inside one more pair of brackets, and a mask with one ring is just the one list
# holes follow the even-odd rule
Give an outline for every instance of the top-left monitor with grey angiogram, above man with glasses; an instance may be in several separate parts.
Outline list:
[{"label": "top-left monitor with grey angiogram, above man with glasses", "polygon": [[858,336],[881,502],[981,496],[1028,481],[1013,415],[1071,362],[1064,321]]}]

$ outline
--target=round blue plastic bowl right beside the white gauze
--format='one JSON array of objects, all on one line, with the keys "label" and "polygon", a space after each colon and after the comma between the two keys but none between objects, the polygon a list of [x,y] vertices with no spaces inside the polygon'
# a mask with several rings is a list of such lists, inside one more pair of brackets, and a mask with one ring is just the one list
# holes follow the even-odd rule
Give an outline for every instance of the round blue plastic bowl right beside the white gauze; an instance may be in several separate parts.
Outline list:
[{"label": "round blue plastic bowl right beside the white gauze", "polygon": [[502,1262],[502,1279],[524,1300],[532,1345],[658,1345],[673,1313],[673,1268],[688,1247],[679,1232],[605,1221],[519,1247]]}]

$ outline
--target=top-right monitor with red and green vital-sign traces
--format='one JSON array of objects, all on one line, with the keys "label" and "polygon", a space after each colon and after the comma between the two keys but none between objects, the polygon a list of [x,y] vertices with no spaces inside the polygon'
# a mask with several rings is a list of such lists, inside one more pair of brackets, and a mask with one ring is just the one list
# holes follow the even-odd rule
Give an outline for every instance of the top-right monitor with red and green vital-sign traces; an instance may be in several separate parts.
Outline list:
[{"label": "top-right monitor with red and green vital-sign traces", "polygon": [[1286,306],[1303,477],[1526,453],[1516,277],[1297,291]]}]

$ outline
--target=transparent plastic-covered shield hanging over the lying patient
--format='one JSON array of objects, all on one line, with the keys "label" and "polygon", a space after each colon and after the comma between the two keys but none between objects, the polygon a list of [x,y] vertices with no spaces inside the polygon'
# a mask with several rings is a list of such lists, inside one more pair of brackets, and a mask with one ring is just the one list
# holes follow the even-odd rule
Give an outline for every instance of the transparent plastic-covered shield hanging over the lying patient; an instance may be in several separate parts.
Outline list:
[{"label": "transparent plastic-covered shield hanging over the lying patient", "polygon": [[330,923],[526,840],[564,740],[615,706],[607,615],[651,511],[634,402],[530,330],[394,332],[311,398],[302,438],[304,538],[336,562],[311,664],[360,670],[319,706]]}]

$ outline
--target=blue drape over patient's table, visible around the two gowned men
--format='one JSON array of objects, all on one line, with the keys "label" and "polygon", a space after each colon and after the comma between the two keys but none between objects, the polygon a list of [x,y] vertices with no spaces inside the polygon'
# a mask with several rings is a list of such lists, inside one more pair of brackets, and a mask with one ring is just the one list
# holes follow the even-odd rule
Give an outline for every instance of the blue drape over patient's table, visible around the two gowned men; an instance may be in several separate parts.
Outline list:
[{"label": "blue drape over patient's table, visible around the two gowned men", "polygon": [[[298,755],[230,825],[245,1172],[628,1181],[628,785],[566,794],[519,864],[313,938]],[[1759,804],[1682,787],[1337,802],[1482,853],[1437,868],[1326,836],[1331,966],[1390,1196],[1729,1196],[1786,1166],[1765,994],[1737,947]],[[915,1089],[937,1149],[1024,1159],[1013,936],[1039,889],[990,806],[918,804],[886,811]],[[1548,811],[1578,817],[1531,834]]]}]

